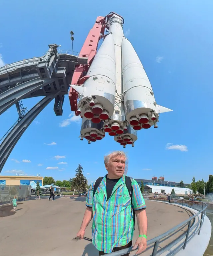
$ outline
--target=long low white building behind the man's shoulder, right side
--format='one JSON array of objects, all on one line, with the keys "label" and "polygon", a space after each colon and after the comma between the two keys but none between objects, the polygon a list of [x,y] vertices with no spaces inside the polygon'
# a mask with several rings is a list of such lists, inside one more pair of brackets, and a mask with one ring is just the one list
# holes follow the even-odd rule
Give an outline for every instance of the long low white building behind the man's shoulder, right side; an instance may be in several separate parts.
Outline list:
[{"label": "long low white building behind the man's shoulder, right side", "polygon": [[158,192],[158,194],[166,193],[171,194],[172,189],[174,189],[175,194],[177,195],[191,195],[193,194],[193,191],[190,188],[177,188],[177,187],[164,187],[164,186],[152,186],[152,185],[145,185],[144,191],[155,193]]}]

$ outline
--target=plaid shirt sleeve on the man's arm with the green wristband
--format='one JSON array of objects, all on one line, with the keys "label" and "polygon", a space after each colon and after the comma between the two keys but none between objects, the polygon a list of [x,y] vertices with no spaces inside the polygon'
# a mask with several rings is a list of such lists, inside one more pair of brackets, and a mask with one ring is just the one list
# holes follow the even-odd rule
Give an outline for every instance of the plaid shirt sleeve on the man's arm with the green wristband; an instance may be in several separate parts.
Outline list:
[{"label": "plaid shirt sleeve on the man's arm with the green wristband", "polygon": [[136,180],[132,180],[132,204],[133,204],[133,209],[136,210],[141,210],[143,208],[146,208],[146,203],[143,198],[143,195],[140,191],[140,187],[137,183]]}]

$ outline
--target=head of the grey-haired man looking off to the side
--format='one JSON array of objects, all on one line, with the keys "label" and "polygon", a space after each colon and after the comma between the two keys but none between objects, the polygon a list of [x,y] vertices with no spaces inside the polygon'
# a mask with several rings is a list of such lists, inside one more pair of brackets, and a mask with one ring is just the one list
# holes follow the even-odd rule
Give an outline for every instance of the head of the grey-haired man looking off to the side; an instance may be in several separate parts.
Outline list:
[{"label": "head of the grey-haired man looking off to the side", "polygon": [[105,164],[108,174],[114,178],[121,178],[125,171],[125,156],[117,155],[109,159]]}]

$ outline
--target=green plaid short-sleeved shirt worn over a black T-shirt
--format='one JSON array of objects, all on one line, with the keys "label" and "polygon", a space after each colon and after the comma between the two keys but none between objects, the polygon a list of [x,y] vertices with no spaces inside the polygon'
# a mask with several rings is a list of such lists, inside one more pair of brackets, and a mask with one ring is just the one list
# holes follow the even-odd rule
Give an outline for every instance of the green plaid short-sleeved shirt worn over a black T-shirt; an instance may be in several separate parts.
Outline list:
[{"label": "green plaid short-sleeved shirt worn over a black T-shirt", "polygon": [[[107,175],[106,175],[107,176]],[[112,252],[114,247],[128,244],[133,238],[133,210],[146,207],[138,183],[132,180],[132,204],[123,176],[107,200],[106,176],[93,198],[93,183],[88,190],[86,206],[93,207],[92,242],[97,250]]]}]

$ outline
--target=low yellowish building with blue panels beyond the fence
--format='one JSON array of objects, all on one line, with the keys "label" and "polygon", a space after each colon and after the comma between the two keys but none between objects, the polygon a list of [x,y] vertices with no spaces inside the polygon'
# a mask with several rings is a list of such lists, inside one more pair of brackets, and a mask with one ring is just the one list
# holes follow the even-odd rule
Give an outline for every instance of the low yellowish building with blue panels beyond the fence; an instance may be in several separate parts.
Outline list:
[{"label": "low yellowish building with blue panels beyond the fence", "polygon": [[43,177],[40,176],[0,176],[0,185],[31,185],[34,188],[37,181],[43,186]]}]

